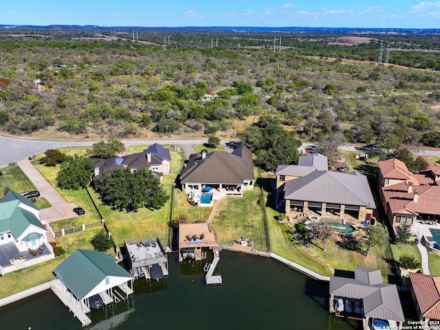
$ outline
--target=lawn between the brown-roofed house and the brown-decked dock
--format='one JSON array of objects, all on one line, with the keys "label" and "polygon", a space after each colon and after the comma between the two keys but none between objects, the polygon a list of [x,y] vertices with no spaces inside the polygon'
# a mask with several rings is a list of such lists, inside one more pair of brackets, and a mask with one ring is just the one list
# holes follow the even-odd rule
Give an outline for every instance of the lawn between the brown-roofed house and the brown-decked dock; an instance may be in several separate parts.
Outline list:
[{"label": "lawn between the brown-roofed house and the brown-decked dock", "polygon": [[254,241],[254,249],[265,251],[266,239],[261,207],[257,204],[259,188],[243,192],[243,197],[225,197],[214,217],[212,228],[217,231],[219,243],[234,244],[245,236]]}]

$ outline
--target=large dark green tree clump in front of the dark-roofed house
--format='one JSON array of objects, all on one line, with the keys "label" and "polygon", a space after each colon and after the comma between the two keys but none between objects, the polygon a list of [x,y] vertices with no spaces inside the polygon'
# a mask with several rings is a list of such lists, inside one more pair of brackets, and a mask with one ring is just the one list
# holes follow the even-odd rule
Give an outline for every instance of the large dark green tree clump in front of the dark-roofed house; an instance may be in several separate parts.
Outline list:
[{"label": "large dark green tree clump in front of the dark-roofed house", "polygon": [[95,180],[96,192],[102,203],[116,210],[131,212],[146,207],[159,209],[168,200],[159,179],[156,179],[149,168],[115,168],[104,172]]}]

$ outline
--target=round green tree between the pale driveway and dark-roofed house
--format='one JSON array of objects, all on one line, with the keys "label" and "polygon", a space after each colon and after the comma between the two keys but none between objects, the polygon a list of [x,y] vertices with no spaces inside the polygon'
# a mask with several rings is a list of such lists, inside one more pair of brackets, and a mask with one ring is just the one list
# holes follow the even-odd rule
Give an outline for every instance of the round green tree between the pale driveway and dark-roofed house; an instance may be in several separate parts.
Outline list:
[{"label": "round green tree between the pale driveway and dark-roofed house", "polygon": [[94,164],[88,157],[74,155],[61,164],[56,182],[61,189],[79,190],[89,184]]}]

